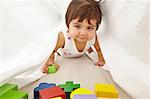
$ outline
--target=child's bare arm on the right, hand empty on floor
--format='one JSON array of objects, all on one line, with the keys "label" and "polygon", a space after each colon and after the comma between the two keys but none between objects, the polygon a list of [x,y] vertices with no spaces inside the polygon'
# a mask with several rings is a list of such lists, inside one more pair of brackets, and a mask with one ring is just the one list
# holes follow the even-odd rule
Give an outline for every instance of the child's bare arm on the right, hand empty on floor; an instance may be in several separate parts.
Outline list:
[{"label": "child's bare arm on the right, hand empty on floor", "polygon": [[94,47],[98,53],[98,58],[99,58],[98,61],[96,62],[96,65],[103,66],[105,64],[105,60],[104,60],[100,45],[98,43],[97,35],[96,35],[96,41],[95,41]]}]

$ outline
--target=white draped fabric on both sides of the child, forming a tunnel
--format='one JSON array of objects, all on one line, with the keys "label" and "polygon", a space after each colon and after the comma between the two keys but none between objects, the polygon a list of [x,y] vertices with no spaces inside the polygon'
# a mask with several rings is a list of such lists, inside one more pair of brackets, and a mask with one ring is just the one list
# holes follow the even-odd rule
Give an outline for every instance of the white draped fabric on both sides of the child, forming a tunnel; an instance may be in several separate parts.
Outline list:
[{"label": "white draped fabric on both sides of the child, forming a tunnel", "polygon": [[[54,48],[57,33],[63,28],[69,2],[0,1],[1,84],[41,66]],[[114,81],[133,98],[149,99],[150,2],[105,0],[102,10],[98,36]]]}]

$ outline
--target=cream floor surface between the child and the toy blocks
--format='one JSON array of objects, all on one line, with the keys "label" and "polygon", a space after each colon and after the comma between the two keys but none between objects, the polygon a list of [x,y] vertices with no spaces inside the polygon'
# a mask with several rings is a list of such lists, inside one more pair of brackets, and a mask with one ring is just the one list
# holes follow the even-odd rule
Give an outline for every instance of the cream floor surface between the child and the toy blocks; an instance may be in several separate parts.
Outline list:
[{"label": "cream floor surface between the child and the toy blocks", "polygon": [[38,81],[21,89],[29,93],[29,99],[33,99],[33,89],[38,86],[39,83],[63,84],[66,81],[80,83],[81,87],[92,91],[94,91],[95,83],[111,83],[114,84],[119,91],[120,99],[132,99],[123,89],[113,82],[108,71],[95,66],[86,56],[71,59],[58,57],[57,63],[60,65],[57,73],[45,75]]}]

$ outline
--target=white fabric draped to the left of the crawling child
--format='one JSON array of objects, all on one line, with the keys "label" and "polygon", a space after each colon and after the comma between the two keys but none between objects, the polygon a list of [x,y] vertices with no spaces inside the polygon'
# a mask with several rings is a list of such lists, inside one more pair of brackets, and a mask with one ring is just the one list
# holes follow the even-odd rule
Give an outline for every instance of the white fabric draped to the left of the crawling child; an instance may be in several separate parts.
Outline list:
[{"label": "white fabric draped to the left of the crawling child", "polygon": [[49,1],[0,1],[0,7],[0,82],[4,82],[42,64],[55,47],[61,14]]}]

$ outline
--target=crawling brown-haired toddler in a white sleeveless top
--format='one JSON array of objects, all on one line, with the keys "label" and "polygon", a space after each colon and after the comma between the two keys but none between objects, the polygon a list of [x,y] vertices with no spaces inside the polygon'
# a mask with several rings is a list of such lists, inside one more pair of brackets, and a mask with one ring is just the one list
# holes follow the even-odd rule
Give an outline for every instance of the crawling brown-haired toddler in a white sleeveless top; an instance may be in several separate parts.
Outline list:
[{"label": "crawling brown-haired toddler in a white sleeveless top", "polygon": [[65,16],[67,30],[62,30],[58,34],[55,49],[42,68],[43,73],[47,73],[48,66],[52,64],[59,67],[54,61],[55,52],[63,57],[80,57],[86,51],[91,53],[92,46],[95,47],[98,54],[95,65],[105,64],[96,34],[102,19],[99,2],[94,0],[72,0],[70,2]]}]

